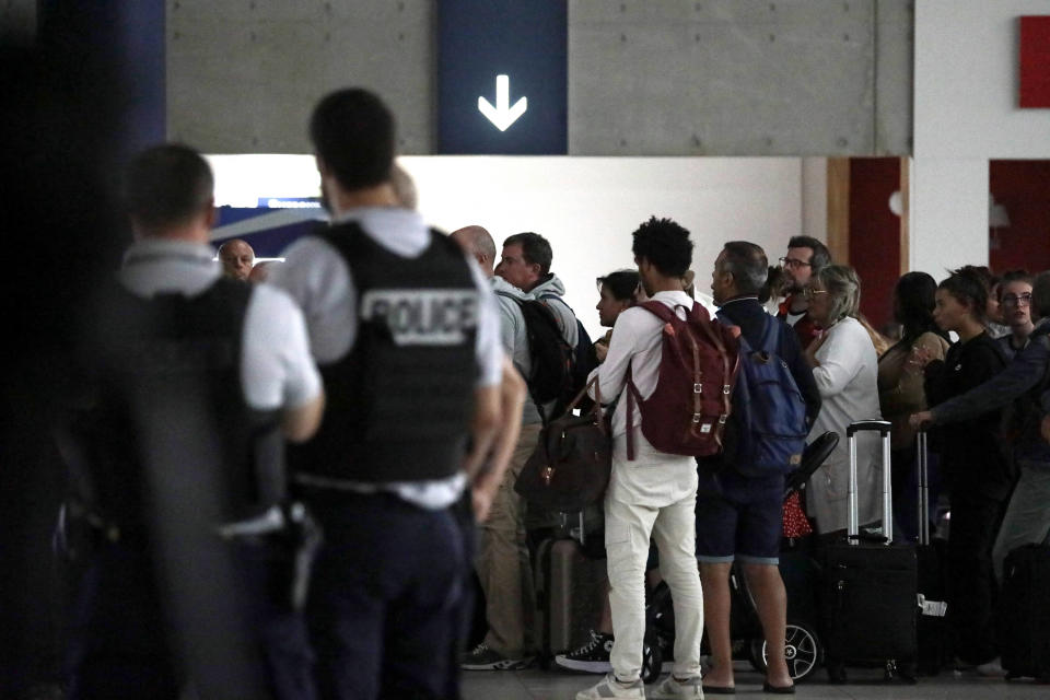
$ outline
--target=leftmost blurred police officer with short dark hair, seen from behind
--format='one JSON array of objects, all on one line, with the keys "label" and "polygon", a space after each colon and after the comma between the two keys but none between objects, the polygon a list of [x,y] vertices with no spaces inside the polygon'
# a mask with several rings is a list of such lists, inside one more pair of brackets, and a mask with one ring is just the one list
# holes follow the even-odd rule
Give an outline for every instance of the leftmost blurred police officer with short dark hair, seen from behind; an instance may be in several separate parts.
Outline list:
[{"label": "leftmost blurred police officer with short dark hair, seen from behind", "polygon": [[149,149],[127,173],[136,241],[102,294],[88,392],[63,433],[73,510],[96,542],[70,698],[174,698],[187,685],[315,697],[294,546],[281,544],[296,518],[281,505],[283,439],[314,433],[324,393],[292,300],[213,261],[212,189],[183,145]]}]

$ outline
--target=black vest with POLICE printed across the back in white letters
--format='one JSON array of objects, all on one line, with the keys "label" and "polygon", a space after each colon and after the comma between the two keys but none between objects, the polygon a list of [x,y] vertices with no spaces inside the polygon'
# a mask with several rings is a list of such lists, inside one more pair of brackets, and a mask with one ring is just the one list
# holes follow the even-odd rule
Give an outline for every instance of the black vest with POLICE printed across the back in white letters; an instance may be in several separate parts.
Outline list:
[{"label": "black vest with POLICE printed across the back in white letters", "polygon": [[463,250],[434,231],[416,258],[390,253],[357,223],[320,235],[350,268],[358,330],[353,348],[320,368],[325,417],[296,450],[295,469],[380,483],[454,475],[478,376],[480,295]]}]

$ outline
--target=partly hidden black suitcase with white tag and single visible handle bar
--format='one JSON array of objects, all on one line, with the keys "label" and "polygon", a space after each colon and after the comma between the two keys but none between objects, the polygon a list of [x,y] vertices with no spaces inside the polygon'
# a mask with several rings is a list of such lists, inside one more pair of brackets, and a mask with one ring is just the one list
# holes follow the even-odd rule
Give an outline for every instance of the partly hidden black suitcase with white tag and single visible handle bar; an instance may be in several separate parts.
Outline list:
[{"label": "partly hidden black suitcase with white tag and single visible handle bar", "polygon": [[915,556],[919,564],[919,619],[917,639],[919,643],[919,673],[936,676],[947,661],[947,626],[944,562],[947,552],[944,539],[930,537],[930,475],[926,431],[921,430],[915,438],[918,443],[919,467],[919,545]]}]

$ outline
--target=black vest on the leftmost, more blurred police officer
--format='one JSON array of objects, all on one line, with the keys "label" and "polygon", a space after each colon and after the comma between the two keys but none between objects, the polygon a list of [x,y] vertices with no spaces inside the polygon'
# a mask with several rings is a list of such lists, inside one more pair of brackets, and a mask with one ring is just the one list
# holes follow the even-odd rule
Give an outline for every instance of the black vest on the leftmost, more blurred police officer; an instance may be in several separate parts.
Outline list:
[{"label": "black vest on the leftmost, more blurred police officer", "polygon": [[[86,464],[94,506],[125,533],[133,536],[148,520],[150,489],[172,483],[171,475],[149,474],[158,462],[180,459],[182,508],[196,508],[195,481],[217,488],[222,522],[284,498],[279,411],[252,409],[241,382],[250,294],[250,285],[228,279],[194,298],[141,299],[115,283],[104,294],[90,355],[97,400]],[[203,463],[221,472],[202,472]]]}]

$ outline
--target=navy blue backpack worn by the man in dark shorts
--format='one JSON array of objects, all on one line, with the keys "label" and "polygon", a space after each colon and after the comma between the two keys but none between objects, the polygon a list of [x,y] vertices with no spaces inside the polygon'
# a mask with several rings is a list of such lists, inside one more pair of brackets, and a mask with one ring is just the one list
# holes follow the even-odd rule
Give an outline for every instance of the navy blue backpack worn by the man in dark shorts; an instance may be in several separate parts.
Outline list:
[{"label": "navy blue backpack worn by the man in dark shorts", "polygon": [[[719,314],[723,323],[731,323]],[[727,464],[744,476],[786,474],[802,464],[806,446],[806,402],[778,353],[783,323],[768,317],[762,339],[751,348],[739,337],[739,372],[733,388],[732,439]]]}]

